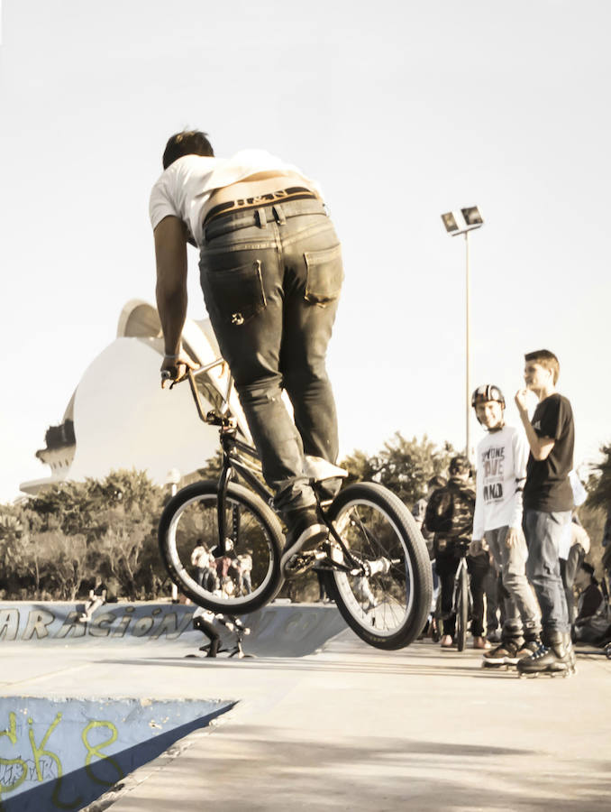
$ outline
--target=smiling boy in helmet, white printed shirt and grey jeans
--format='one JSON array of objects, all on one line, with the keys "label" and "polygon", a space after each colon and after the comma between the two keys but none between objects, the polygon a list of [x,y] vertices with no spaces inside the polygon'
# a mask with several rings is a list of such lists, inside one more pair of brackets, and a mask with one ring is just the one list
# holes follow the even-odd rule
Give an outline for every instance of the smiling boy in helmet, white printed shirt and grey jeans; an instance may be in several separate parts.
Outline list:
[{"label": "smiling boy in helmet, white printed shirt and grey jeans", "polygon": [[473,392],[471,406],[487,430],[477,454],[472,548],[488,545],[501,573],[505,623],[501,642],[484,653],[484,665],[515,665],[539,647],[539,607],[526,578],[526,541],[522,531],[522,493],[528,443],[524,433],[505,423],[505,398],[493,384]]}]

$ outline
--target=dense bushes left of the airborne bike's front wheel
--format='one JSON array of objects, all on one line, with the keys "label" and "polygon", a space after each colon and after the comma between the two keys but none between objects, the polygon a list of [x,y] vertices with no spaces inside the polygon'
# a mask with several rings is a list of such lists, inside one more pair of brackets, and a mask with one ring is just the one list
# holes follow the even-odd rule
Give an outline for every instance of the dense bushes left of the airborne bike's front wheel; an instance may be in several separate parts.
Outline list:
[{"label": "dense bushes left of the airborne bike's front wheel", "polygon": [[[0,505],[0,589],[74,600],[90,581],[120,595],[150,595],[165,573],[157,552],[163,492],[142,472],[59,483],[23,503]],[[25,592],[25,595],[23,595]]]}]

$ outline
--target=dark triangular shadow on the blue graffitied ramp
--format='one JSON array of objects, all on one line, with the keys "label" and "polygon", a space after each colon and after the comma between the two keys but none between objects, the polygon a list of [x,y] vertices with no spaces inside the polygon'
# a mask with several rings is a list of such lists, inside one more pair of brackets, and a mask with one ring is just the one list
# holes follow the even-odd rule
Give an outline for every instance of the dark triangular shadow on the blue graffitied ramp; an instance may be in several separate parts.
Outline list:
[{"label": "dark triangular shadow on the blue graffitied ramp", "polygon": [[1,812],[55,812],[78,810],[86,807],[109,789],[121,789],[122,780],[133,770],[158,758],[173,744],[210,724],[236,705],[228,703],[211,714],[201,716],[187,724],[159,734],[148,741],[125,750],[114,752],[105,759],[92,761],[88,767],[73,770],[59,779],[47,780],[33,789],[27,789],[12,798],[0,799]]}]

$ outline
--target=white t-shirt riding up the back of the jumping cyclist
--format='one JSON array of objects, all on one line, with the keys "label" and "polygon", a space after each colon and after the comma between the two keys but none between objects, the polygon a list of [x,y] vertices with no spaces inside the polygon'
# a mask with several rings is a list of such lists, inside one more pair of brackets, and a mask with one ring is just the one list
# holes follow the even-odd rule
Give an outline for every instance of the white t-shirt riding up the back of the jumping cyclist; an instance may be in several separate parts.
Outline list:
[{"label": "white t-shirt riding up the back of the jumping cyclist", "polygon": [[169,165],[150,192],[150,224],[154,230],[164,217],[179,217],[201,246],[202,211],[214,189],[223,189],[258,172],[268,171],[300,175],[309,189],[320,194],[315,181],[265,150],[242,150],[233,158],[183,155]]}]

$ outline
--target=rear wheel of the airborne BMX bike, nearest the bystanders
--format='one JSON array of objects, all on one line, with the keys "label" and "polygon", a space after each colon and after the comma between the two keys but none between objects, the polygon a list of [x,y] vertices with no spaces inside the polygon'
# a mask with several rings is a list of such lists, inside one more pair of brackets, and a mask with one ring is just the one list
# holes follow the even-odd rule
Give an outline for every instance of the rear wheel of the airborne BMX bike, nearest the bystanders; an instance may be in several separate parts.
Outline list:
[{"label": "rear wheel of the airborne BMX bike, nearest the bystanders", "polygon": [[409,645],[424,629],[433,594],[431,562],[413,516],[383,485],[355,483],[335,497],[327,519],[355,556],[395,562],[388,572],[368,578],[369,594],[380,598],[369,610],[360,577],[338,569],[327,574],[328,594],[343,619],[375,648],[390,651]]}]

